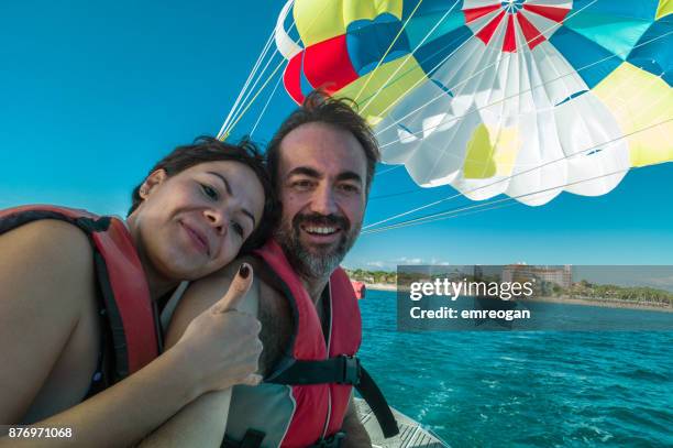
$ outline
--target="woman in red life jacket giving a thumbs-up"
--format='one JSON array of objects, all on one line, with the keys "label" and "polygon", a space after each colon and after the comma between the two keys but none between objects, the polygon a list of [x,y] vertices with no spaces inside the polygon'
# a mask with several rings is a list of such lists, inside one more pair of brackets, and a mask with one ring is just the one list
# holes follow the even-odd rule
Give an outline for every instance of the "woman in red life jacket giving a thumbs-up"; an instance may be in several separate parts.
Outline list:
[{"label": "woman in red life jacket giving a thumbs-up", "polygon": [[260,324],[235,310],[250,266],[158,358],[151,309],[262,241],[273,204],[251,143],[201,139],[135,188],[128,230],[79,210],[0,212],[0,424],[128,446],[203,393],[258,382]]}]

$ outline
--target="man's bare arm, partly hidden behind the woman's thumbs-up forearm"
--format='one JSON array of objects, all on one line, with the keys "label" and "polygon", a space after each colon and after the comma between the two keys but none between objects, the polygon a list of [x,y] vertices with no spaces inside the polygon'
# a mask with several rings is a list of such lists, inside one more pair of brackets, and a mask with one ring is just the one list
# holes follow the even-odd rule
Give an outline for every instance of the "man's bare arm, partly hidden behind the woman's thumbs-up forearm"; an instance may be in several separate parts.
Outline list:
[{"label": "man's bare arm, partly hidden behind the woman's thumbs-up forearm", "polygon": [[[218,294],[230,287],[239,265],[236,262],[231,263],[223,271],[189,286],[168,327],[167,347],[183,336],[195,316],[211,306]],[[257,316],[258,295],[260,285],[254,282],[238,309]],[[258,380],[261,379],[262,376],[258,376]],[[141,447],[219,447],[224,437],[230,403],[231,389],[201,395],[143,440]]]}]

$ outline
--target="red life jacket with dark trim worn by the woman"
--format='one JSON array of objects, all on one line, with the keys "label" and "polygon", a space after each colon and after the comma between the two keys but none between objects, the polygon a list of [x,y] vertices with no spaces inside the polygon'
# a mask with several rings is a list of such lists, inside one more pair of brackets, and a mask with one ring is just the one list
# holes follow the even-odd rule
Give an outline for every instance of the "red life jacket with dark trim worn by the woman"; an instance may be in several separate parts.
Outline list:
[{"label": "red life jacket with dark trim worn by the woman", "polygon": [[157,320],[143,266],[124,223],[85,210],[23,206],[0,211],[0,234],[38,219],[69,222],[89,237],[112,334],[114,359],[108,382],[117,382],[155,359],[161,350]]}]

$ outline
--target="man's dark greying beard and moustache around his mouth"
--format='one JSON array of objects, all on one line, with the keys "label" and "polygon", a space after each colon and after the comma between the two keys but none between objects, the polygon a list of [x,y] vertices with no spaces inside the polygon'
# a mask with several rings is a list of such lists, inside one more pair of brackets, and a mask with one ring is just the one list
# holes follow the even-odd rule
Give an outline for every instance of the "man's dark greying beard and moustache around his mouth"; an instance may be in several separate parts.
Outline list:
[{"label": "man's dark greying beard and moustache around his mouth", "polygon": [[[336,227],[340,229],[340,238],[336,244],[329,247],[311,245],[305,247],[300,241],[300,226],[316,227]],[[297,214],[291,222],[282,220],[280,226],[275,232],[276,241],[283,248],[285,256],[295,271],[305,277],[323,278],[330,276],[339,266],[345,254],[351,250],[360,230],[362,222],[351,228],[349,220],[338,215],[320,214]]]}]

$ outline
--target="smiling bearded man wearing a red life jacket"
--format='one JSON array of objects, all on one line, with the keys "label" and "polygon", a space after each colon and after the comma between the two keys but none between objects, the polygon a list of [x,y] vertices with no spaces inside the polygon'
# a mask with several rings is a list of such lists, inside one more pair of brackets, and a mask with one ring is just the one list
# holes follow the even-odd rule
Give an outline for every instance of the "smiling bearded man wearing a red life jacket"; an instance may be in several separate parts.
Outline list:
[{"label": "smiling bearded man wearing a red life jacket", "polygon": [[[352,385],[361,382],[360,365],[350,358],[360,347],[360,310],[339,263],[360,233],[378,157],[365,121],[346,103],[319,92],[307,97],[269,143],[268,167],[282,214],[272,240],[256,259],[246,259],[255,272],[246,307],[262,323],[265,383],[234,387],[228,446],[371,446],[352,398]],[[168,345],[227,291],[239,264],[190,287]],[[366,397],[375,385],[366,373],[363,378]],[[377,393],[378,404],[385,404]],[[205,418],[216,415],[222,422],[227,398],[210,394],[200,401],[174,435],[184,437],[198,422],[196,433],[202,437]],[[390,425],[397,429],[388,422],[387,433]],[[208,440],[221,440],[222,430]]]}]

